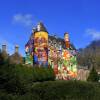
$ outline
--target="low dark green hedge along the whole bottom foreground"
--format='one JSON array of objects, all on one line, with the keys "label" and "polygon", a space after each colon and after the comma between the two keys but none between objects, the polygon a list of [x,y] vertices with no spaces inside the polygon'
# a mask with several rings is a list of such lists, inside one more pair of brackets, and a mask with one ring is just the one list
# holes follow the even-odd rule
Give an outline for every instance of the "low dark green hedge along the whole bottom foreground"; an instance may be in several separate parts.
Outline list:
[{"label": "low dark green hedge along the whole bottom foreground", "polygon": [[100,100],[100,85],[80,81],[35,82],[23,95],[0,91],[0,100]]}]

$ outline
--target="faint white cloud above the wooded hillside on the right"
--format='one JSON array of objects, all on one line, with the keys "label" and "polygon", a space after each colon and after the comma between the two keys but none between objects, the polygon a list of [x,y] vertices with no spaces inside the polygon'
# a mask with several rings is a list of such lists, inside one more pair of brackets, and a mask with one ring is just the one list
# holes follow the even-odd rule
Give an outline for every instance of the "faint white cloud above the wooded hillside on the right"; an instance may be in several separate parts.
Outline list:
[{"label": "faint white cloud above the wooded hillside on the right", "polygon": [[87,29],[86,34],[88,36],[91,36],[93,40],[100,39],[100,31],[94,30],[94,29]]}]

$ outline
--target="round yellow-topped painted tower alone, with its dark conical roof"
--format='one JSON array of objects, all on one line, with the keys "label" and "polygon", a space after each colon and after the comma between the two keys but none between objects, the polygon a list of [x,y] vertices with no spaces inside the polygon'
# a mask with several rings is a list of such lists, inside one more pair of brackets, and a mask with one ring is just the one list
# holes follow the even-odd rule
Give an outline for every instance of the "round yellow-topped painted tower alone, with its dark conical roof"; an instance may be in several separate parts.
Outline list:
[{"label": "round yellow-topped painted tower alone, with its dark conical roof", "polygon": [[34,62],[39,66],[48,65],[48,32],[43,23],[38,23],[34,32]]}]

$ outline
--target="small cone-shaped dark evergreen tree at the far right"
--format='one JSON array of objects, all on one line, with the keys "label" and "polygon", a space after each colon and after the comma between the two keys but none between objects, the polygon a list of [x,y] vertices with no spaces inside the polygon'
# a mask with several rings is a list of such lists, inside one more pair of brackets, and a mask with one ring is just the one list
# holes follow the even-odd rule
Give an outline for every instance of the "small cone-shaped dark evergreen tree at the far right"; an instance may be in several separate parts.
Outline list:
[{"label": "small cone-shaped dark evergreen tree at the far right", "polygon": [[98,82],[98,80],[99,80],[99,75],[98,75],[96,69],[93,67],[90,71],[87,81]]}]

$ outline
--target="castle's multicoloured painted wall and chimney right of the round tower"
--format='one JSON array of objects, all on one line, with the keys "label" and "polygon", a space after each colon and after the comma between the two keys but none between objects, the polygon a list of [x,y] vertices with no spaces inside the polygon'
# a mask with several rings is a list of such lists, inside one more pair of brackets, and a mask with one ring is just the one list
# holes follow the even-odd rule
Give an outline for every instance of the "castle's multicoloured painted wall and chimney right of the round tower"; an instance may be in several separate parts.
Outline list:
[{"label": "castle's multicoloured painted wall and chimney right of the round tower", "polygon": [[[54,69],[57,79],[75,79],[77,77],[76,50],[70,48],[68,33],[64,36],[64,48],[61,43],[49,43],[48,64]],[[56,46],[57,44],[59,46]]]}]

